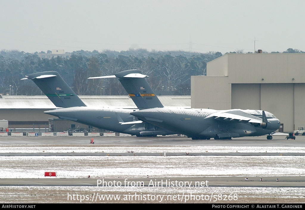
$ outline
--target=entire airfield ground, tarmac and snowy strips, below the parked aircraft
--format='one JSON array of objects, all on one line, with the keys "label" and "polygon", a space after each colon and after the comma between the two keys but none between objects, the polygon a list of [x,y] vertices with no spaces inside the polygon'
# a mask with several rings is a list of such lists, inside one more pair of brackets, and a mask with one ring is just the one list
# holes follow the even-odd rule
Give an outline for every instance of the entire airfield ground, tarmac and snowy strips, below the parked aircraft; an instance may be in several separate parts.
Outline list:
[{"label": "entire airfield ground, tarmac and snowy strips, below the parked aircraft", "polygon": [[[297,136],[296,140],[286,140],[285,135],[274,135],[272,140],[265,136],[232,140],[95,137],[95,144],[89,144],[90,138],[0,137],[3,202],[35,203],[42,201],[38,197],[48,197],[48,202],[79,203],[80,199],[70,199],[67,193],[92,198],[94,193],[128,197],[137,192],[142,195],[153,192],[156,196],[205,194],[214,199],[212,193],[222,194],[214,201],[207,197],[184,200],[191,203],[305,201],[305,136]],[[45,178],[46,170],[56,170],[58,176]],[[87,178],[89,175],[91,178]],[[244,180],[246,177],[249,181]],[[100,180],[108,185],[97,187]],[[126,186],[127,182],[130,183]],[[164,186],[165,182],[171,185]],[[121,186],[114,183],[121,183]],[[35,193],[36,196],[31,196]],[[52,196],[48,196],[49,193]],[[238,199],[225,200],[228,193],[236,194]],[[91,198],[82,202],[135,202],[130,197],[116,201]],[[137,202],[160,200],[143,198]],[[167,199],[162,202],[183,201]]]}]

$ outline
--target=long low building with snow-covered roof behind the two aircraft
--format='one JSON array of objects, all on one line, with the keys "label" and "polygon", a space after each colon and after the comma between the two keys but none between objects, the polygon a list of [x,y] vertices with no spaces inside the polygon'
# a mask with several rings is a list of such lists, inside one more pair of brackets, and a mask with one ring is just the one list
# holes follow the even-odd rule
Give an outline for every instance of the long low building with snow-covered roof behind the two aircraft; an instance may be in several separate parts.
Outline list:
[{"label": "long low building with snow-covered roof behind the two aircraft", "polygon": [[[79,96],[87,106],[111,107],[136,109],[135,103],[127,96]],[[164,106],[181,108],[191,107],[190,96],[158,96]],[[45,130],[51,128],[49,118],[51,115],[44,111],[56,109],[56,106],[45,95],[22,96],[22,95],[0,95],[0,119],[8,120],[10,130],[14,129],[35,129]],[[54,118],[56,120],[56,118]],[[53,121],[54,122],[54,121]],[[63,124],[64,123],[64,124]],[[98,128],[91,128],[81,123],[70,120],[57,121],[56,131],[69,130],[73,127],[80,127],[87,130],[100,131]],[[61,128],[61,130],[59,129]]]}]

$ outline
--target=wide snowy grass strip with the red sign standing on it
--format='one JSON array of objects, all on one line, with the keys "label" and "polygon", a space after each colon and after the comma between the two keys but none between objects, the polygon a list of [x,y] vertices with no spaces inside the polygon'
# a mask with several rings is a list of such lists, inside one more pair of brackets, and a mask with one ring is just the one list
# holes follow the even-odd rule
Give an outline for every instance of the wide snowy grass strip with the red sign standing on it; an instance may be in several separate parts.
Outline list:
[{"label": "wide snowy grass strip with the red sign standing on it", "polygon": [[0,156],[0,178],[303,176],[305,156]]}]

